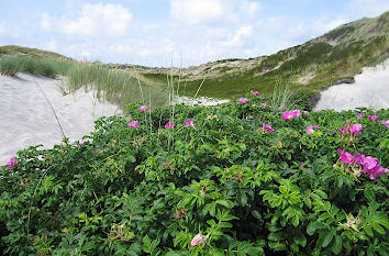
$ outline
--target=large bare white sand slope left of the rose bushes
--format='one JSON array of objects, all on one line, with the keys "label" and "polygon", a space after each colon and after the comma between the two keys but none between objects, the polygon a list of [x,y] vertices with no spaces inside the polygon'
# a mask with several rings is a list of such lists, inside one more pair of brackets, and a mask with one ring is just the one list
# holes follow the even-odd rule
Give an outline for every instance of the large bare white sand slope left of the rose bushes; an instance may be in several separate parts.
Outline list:
[{"label": "large bare white sand slope left of the rose bushes", "polygon": [[70,142],[92,132],[99,116],[121,113],[116,105],[96,100],[91,91],[63,96],[57,79],[25,74],[18,74],[18,78],[0,76],[0,165],[19,149],[37,144],[52,148],[63,140],[57,120],[34,80],[51,101]]}]

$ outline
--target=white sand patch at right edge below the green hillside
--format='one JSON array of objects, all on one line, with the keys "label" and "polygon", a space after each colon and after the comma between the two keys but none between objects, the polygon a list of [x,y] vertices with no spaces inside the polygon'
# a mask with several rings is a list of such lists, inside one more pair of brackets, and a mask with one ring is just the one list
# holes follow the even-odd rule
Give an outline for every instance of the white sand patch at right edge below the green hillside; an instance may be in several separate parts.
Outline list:
[{"label": "white sand patch at right edge below the green hillside", "polygon": [[374,68],[364,68],[355,76],[355,84],[332,86],[322,92],[315,110],[352,110],[389,108],[389,59]]}]

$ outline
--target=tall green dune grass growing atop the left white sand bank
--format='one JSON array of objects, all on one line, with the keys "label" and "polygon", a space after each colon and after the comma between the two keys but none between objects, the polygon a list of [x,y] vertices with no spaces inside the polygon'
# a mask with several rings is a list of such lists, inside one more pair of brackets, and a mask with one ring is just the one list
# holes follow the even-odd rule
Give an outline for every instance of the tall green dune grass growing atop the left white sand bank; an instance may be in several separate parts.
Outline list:
[{"label": "tall green dune grass growing atop the left white sand bank", "polygon": [[24,54],[0,57],[0,74],[16,76],[27,73],[45,77],[64,76],[59,87],[62,93],[74,92],[80,88],[93,90],[100,100],[107,100],[123,108],[133,102],[152,102],[153,107],[167,101],[167,92],[146,85],[122,70],[109,69],[104,65],[78,63],[74,60],[42,58]]}]

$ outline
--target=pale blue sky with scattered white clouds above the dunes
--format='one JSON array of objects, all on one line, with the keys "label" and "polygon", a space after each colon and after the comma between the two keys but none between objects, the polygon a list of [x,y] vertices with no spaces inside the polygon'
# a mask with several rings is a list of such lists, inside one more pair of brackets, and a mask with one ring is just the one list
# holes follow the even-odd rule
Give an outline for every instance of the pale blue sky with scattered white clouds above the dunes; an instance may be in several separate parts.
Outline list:
[{"label": "pale blue sky with scattered white clouds above the dunes", "polygon": [[187,67],[270,55],[389,10],[388,0],[0,0],[0,46]]}]

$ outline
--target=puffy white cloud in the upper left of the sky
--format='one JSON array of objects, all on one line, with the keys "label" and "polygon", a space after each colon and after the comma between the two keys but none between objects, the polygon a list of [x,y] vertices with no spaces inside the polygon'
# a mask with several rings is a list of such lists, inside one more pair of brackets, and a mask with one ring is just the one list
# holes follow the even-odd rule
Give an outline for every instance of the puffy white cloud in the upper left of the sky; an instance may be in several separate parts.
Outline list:
[{"label": "puffy white cloud in the upper left of the sky", "polygon": [[67,35],[122,37],[129,33],[132,20],[132,13],[121,4],[86,3],[78,16],[70,15],[54,19],[43,13],[41,27]]}]

